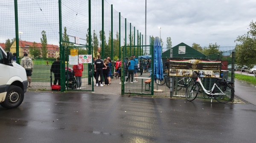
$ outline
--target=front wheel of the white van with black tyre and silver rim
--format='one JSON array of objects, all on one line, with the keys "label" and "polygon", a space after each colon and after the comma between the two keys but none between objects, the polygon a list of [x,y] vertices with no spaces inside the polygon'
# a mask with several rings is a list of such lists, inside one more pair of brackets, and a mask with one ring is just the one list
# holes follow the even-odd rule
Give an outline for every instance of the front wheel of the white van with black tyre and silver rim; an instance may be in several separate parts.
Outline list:
[{"label": "front wheel of the white van with black tyre and silver rim", "polygon": [[7,109],[12,109],[20,106],[24,99],[23,90],[15,85],[11,85],[7,91],[5,101],[0,103],[0,105]]}]

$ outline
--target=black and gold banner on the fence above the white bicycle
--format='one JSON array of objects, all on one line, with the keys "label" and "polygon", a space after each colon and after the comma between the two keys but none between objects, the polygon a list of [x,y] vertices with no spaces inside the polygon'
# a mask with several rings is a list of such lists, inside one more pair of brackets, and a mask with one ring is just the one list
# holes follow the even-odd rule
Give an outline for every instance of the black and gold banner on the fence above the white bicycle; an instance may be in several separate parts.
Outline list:
[{"label": "black and gold banner on the fence above the white bicycle", "polygon": [[201,77],[220,77],[221,61],[209,59],[170,59],[169,76],[193,76],[197,71]]}]

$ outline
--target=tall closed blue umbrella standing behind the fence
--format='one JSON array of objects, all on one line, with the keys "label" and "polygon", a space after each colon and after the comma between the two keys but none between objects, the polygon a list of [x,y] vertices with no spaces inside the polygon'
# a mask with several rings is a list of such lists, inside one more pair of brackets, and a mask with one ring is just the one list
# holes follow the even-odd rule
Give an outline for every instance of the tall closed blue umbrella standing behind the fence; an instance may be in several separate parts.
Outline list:
[{"label": "tall closed blue umbrella standing behind the fence", "polygon": [[154,80],[163,80],[162,46],[160,39],[154,39]]}]

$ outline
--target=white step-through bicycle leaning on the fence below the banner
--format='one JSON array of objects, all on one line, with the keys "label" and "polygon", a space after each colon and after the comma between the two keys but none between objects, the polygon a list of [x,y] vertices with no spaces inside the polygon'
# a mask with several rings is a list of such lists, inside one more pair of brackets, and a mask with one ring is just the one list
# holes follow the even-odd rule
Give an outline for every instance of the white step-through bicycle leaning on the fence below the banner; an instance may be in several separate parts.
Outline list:
[{"label": "white step-through bicycle leaning on the fence below the banner", "polygon": [[[227,103],[231,101],[234,98],[234,88],[230,85],[233,85],[230,81],[222,81],[222,78],[215,78],[216,81],[213,84],[213,87],[211,90],[206,90],[204,88],[204,85],[202,84],[199,73],[197,71],[194,71],[193,77],[194,82],[192,84],[189,84],[186,88],[186,99],[188,101],[193,101],[197,95],[198,95],[198,83],[201,85],[202,89],[204,90],[204,93],[206,93],[209,97],[212,98],[212,96],[215,98],[216,101],[221,103]],[[219,81],[219,85],[216,84],[216,82]],[[212,102],[212,99],[211,99]]]}]

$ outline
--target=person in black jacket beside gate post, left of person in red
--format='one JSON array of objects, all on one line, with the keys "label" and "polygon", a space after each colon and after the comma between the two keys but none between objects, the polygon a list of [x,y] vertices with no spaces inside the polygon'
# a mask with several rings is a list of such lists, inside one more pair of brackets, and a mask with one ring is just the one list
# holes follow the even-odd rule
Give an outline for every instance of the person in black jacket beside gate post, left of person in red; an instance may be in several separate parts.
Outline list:
[{"label": "person in black jacket beside gate post, left of person in red", "polygon": [[54,73],[54,81],[53,84],[61,85],[61,62],[60,57],[57,57],[56,61],[52,63],[51,72]]}]

